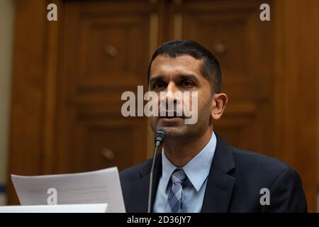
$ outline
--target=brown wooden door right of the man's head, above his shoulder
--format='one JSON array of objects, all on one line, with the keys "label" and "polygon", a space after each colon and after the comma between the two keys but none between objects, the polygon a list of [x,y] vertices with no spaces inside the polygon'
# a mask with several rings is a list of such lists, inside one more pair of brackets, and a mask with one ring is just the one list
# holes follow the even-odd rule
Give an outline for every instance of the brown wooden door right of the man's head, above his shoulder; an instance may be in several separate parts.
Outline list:
[{"label": "brown wooden door right of the man's head, above his shoulder", "polygon": [[273,24],[259,20],[259,1],[185,1],[182,38],[216,55],[228,105],[215,130],[232,145],[274,156]]}]

